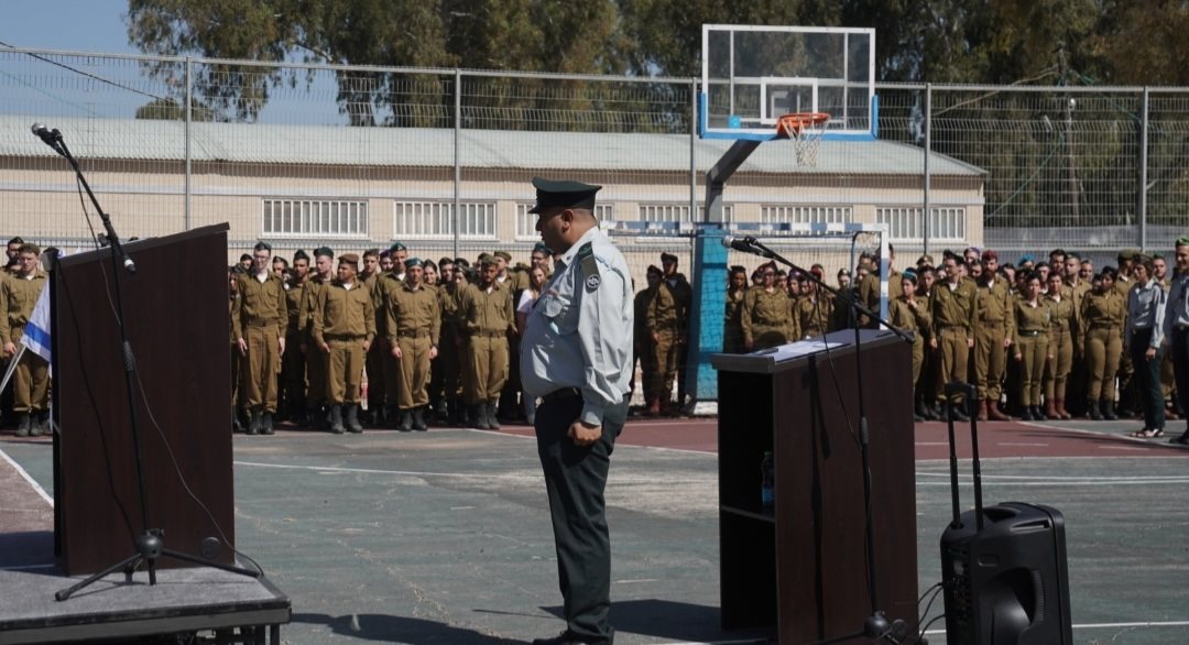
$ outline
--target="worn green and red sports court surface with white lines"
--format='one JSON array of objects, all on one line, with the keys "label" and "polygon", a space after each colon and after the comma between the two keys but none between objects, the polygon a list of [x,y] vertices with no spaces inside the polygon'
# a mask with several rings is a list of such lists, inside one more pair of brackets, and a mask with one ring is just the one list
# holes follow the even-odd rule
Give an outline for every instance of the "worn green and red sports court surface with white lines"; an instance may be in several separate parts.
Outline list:
[{"label": "worn green and red sports court surface with white lines", "polygon": [[[1064,513],[1076,643],[1189,643],[1189,450],[1121,438],[1132,425],[981,424],[986,502]],[[937,459],[944,429],[917,426],[920,593],[940,577],[950,518],[949,467]],[[235,436],[238,543],[292,599],[283,640],[498,644],[556,633],[529,432]],[[713,420],[638,420],[621,437],[608,487],[617,643],[765,637],[718,627],[713,434]],[[49,488],[48,443],[6,435],[0,450]],[[1028,451],[1046,456],[1020,456]],[[963,507],[969,473],[963,461]],[[938,597],[926,620],[940,607]],[[942,622],[929,640],[945,641]]]}]

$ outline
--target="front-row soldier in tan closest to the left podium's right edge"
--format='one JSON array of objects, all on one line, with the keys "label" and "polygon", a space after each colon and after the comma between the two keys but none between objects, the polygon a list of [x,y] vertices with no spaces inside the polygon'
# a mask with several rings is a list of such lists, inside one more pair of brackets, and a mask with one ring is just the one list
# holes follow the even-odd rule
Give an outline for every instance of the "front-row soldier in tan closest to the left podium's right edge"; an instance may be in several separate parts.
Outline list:
[{"label": "front-row soldier in tan closest to the left podium's right edge", "polygon": [[272,434],[277,375],[289,327],[284,286],[269,271],[271,257],[268,242],[257,242],[252,248],[252,270],[239,276],[239,299],[231,318],[239,353],[246,361],[240,394],[251,412],[249,435]]}]

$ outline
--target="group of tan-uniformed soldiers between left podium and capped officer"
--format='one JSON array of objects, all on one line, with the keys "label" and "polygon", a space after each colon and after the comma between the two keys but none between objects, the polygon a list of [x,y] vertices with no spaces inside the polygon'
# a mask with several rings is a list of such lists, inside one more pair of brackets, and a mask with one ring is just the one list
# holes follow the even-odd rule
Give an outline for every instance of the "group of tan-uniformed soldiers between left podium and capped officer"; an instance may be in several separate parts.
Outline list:
[{"label": "group of tan-uniformed soldiers between left podium and capped officer", "polygon": [[365,253],[363,271],[342,254],[336,273],[331,248],[315,251],[313,267],[298,251],[288,274],[256,245],[252,267],[229,272],[237,423],[243,410],[247,434],[271,434],[284,409],[298,424],[360,432],[366,371],[371,423],[426,430],[433,401],[443,422],[499,428],[501,398],[509,415],[518,405],[515,303],[540,289],[549,258],[541,245],[524,271],[509,271],[505,252],[482,254],[473,270],[442,258],[430,284],[427,263],[400,242]]}]

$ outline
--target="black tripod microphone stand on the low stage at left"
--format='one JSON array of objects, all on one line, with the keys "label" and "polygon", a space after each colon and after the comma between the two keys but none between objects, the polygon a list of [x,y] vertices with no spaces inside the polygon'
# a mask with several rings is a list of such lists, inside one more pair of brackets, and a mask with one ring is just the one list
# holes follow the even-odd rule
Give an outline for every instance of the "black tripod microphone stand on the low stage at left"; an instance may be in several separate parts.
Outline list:
[{"label": "black tripod microphone stand on the low stage at left", "polygon": [[[34,129],[36,132],[36,129]],[[133,380],[136,371],[136,358],[132,354],[132,344],[128,342],[128,330],[127,325],[124,323],[124,295],[122,295],[122,283],[120,280],[120,265],[128,273],[136,273],[136,264],[132,258],[124,251],[124,246],[120,244],[120,238],[115,233],[115,227],[112,226],[112,219],[103,213],[102,207],[99,205],[99,200],[95,198],[95,194],[90,190],[90,185],[87,183],[87,178],[82,173],[82,169],[78,167],[78,162],[70,154],[70,148],[67,147],[65,141],[62,139],[62,133],[57,129],[52,131],[51,137],[45,139],[45,144],[54,148],[55,152],[65,157],[70,162],[70,167],[74,169],[75,176],[82,186],[87,190],[87,195],[90,197],[90,203],[95,207],[99,213],[99,217],[103,221],[103,230],[107,235],[108,248],[112,253],[112,276],[115,280],[115,310],[117,310],[117,325],[120,328],[120,355],[124,358],[124,382],[127,387],[128,393],[128,420],[132,431],[132,450],[136,456],[136,473],[137,473],[137,486],[140,493],[140,529],[141,532],[133,539],[133,554],[120,562],[103,569],[102,571],[83,580],[82,582],[61,592],[54,594],[54,597],[58,601],[69,599],[76,592],[89,587],[94,582],[107,577],[115,571],[124,569],[124,576],[126,582],[132,582],[132,574],[140,568],[141,564],[147,565],[149,570],[149,584],[157,584],[157,559],[161,557],[171,557],[175,559],[181,559],[183,562],[191,562],[195,564],[203,564],[207,567],[213,567],[215,569],[222,569],[225,571],[231,571],[234,574],[240,574],[251,577],[260,577],[259,571],[253,571],[251,569],[244,569],[241,567],[235,567],[232,564],[224,564],[221,562],[214,562],[199,556],[193,556],[189,554],[183,554],[180,551],[174,551],[165,548],[165,540],[163,539],[164,531],[161,529],[150,529],[149,523],[149,494],[145,487],[145,475],[144,475],[144,461],[140,450],[140,429],[137,420],[137,405],[136,397],[133,396]]]}]

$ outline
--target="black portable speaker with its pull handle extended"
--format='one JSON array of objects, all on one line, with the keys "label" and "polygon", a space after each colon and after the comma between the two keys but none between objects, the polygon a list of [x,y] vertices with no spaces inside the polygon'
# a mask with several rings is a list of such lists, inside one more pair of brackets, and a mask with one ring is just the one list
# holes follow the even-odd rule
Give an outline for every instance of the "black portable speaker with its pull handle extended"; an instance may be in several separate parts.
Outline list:
[{"label": "black portable speaker with its pull handle extended", "polygon": [[[970,384],[945,386],[975,399]],[[974,511],[960,514],[958,460],[949,422],[954,520],[942,533],[945,641],[949,645],[1072,645],[1065,519],[1039,504],[982,507],[979,425],[970,416]]]}]

